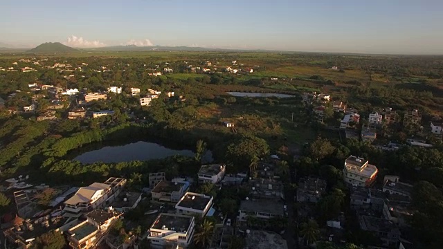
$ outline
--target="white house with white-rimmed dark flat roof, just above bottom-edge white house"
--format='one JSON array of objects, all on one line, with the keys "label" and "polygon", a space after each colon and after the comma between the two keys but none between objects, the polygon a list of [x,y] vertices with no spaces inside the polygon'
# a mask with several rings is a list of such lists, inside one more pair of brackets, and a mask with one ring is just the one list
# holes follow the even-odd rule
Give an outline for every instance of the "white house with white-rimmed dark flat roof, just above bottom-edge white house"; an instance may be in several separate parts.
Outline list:
[{"label": "white house with white-rimmed dark flat roof, just above bottom-edge white house", "polygon": [[213,207],[213,199],[213,196],[186,192],[175,205],[175,213],[204,217]]}]

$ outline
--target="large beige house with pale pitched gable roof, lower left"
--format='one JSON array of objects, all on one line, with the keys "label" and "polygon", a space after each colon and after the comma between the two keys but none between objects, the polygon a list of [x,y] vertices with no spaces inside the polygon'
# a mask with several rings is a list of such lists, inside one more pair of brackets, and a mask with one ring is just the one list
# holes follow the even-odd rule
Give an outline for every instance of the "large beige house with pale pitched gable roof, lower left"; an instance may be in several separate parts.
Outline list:
[{"label": "large beige house with pale pitched gable roof, lower left", "polygon": [[75,194],[64,202],[64,216],[79,217],[82,212],[100,208],[105,201],[113,200],[120,194],[125,185],[124,178],[109,178],[105,183],[92,183],[88,187],[80,187]]}]

